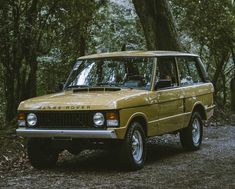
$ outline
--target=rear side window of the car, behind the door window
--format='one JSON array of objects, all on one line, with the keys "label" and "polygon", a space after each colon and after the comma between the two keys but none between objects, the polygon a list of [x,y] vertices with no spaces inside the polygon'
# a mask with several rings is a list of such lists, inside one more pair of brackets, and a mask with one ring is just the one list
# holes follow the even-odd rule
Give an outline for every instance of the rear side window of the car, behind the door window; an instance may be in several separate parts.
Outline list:
[{"label": "rear side window of the car, behind the door window", "polygon": [[177,63],[181,86],[194,85],[203,82],[200,67],[193,58],[178,57]]}]

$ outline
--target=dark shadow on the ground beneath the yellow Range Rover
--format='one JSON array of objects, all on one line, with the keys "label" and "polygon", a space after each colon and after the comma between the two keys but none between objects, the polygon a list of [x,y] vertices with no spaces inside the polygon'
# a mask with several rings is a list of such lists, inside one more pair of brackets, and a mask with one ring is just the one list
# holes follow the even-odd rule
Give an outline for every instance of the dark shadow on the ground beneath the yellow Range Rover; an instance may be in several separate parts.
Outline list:
[{"label": "dark shadow on the ground beneath the yellow Range Rover", "polygon": [[[175,141],[150,141],[147,143],[146,165],[153,164],[178,154],[186,153],[178,142]],[[122,162],[118,161],[115,154],[105,150],[85,150],[79,155],[63,152],[57,163],[58,171],[121,171]]]}]

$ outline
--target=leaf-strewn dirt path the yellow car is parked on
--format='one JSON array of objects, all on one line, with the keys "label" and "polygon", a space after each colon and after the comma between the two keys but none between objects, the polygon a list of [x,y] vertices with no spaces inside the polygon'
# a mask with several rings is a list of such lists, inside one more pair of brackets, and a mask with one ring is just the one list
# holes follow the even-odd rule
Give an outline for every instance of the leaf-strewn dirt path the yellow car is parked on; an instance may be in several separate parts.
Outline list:
[{"label": "leaf-strewn dirt path the yellow car is parked on", "polygon": [[205,128],[202,148],[190,153],[177,136],[154,138],[140,171],[121,171],[112,159],[102,151],[65,152],[55,169],[43,171],[21,160],[0,167],[0,188],[235,188],[235,127]]}]

